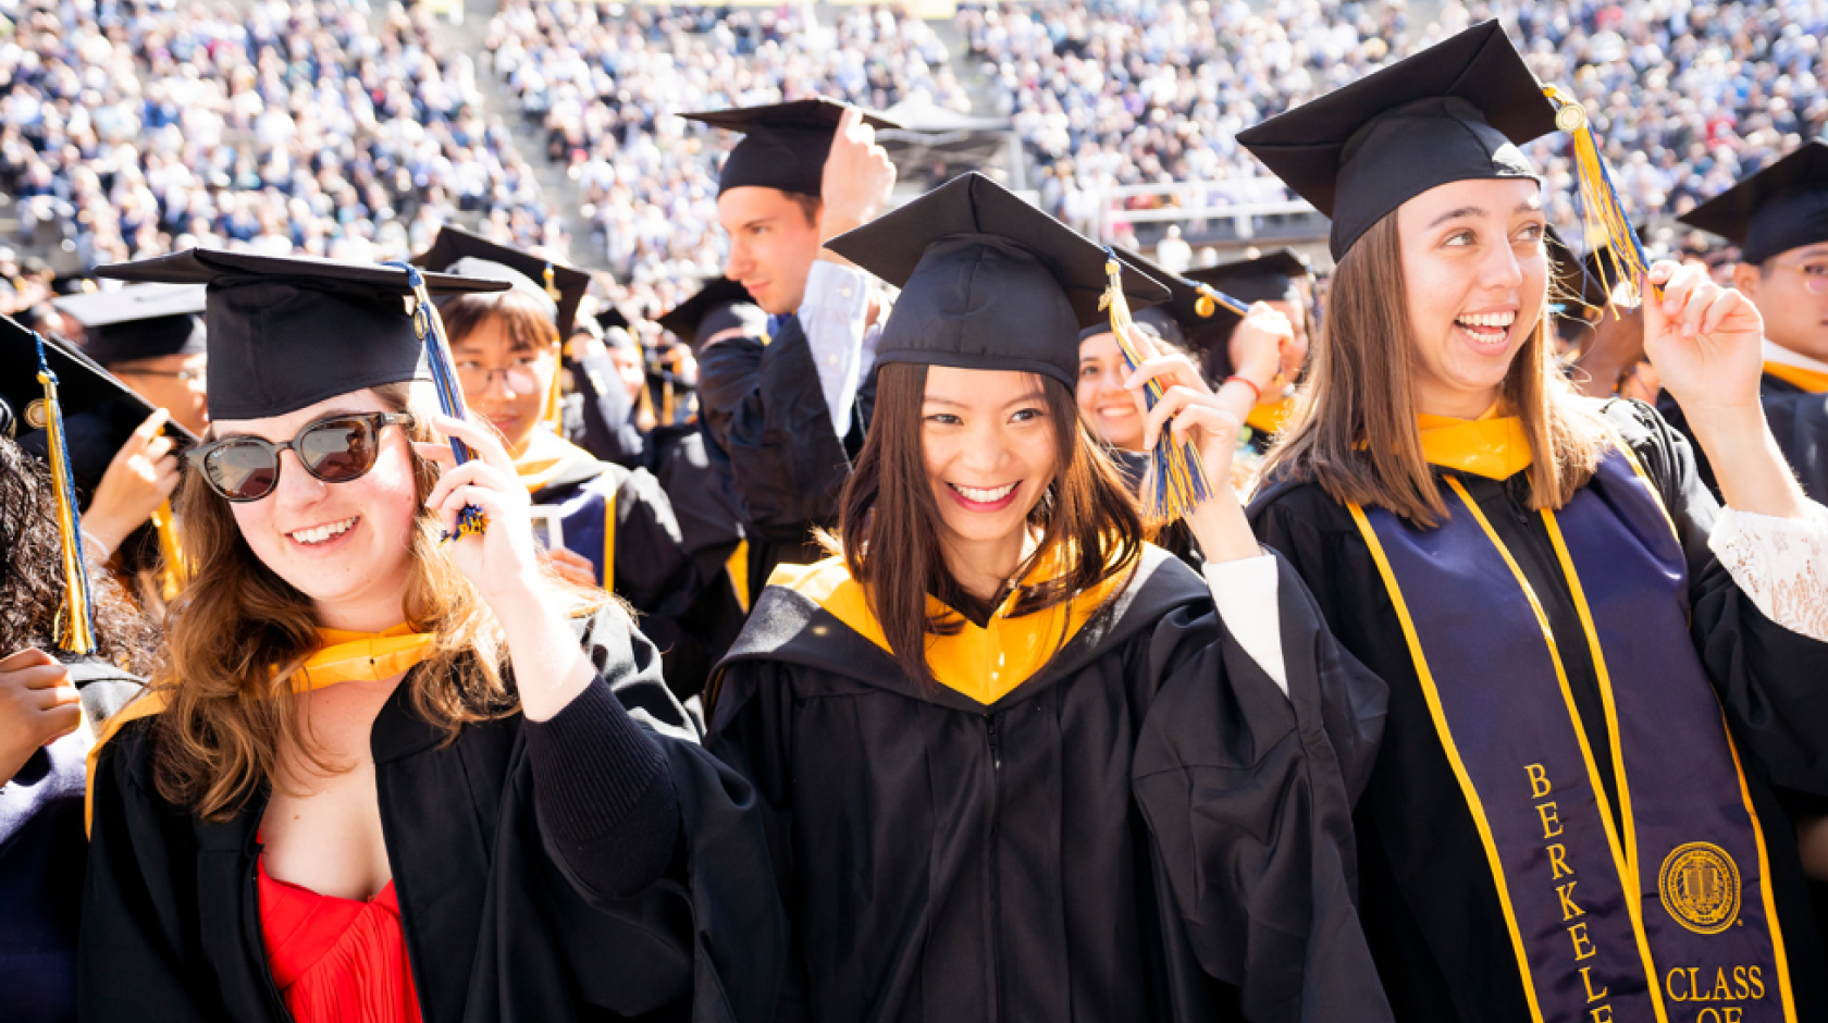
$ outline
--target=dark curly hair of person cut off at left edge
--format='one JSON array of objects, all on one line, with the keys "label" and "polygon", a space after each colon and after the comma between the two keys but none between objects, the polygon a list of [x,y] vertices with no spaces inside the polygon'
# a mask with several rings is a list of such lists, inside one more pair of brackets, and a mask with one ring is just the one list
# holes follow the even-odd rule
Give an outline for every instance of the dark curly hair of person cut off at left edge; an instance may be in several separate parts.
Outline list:
[{"label": "dark curly hair of person cut off at left edge", "polygon": [[[51,468],[0,437],[0,656],[57,650],[64,606],[64,555],[57,533]],[[95,656],[133,674],[157,669],[157,630],[106,572],[90,570]]]}]

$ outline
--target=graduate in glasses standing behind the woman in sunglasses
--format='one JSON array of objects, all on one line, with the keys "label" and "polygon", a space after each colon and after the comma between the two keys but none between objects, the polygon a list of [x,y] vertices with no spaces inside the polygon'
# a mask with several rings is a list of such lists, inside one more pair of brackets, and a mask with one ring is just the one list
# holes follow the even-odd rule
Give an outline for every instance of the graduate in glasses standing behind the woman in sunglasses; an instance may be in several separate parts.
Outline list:
[{"label": "graduate in glasses standing behind the woman in sunglasses", "polygon": [[450,225],[417,263],[508,285],[437,300],[464,404],[501,431],[534,506],[558,522],[547,533],[552,568],[629,601],[660,649],[667,683],[682,696],[698,692],[711,658],[689,612],[704,585],[673,502],[647,469],[600,462],[558,433],[559,338],[590,278]]}]

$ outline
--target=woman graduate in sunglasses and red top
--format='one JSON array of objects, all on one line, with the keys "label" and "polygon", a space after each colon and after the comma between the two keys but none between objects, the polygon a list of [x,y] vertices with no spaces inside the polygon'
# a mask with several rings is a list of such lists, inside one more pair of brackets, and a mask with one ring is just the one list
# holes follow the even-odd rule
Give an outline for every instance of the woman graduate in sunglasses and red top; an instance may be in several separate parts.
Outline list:
[{"label": "woman graduate in sunglasses and red top", "polygon": [[422,384],[426,292],[503,285],[212,250],[104,272],[208,285],[212,424],[168,665],[95,764],[80,1012],[766,1018],[748,787],[622,606],[543,570],[495,433]]}]

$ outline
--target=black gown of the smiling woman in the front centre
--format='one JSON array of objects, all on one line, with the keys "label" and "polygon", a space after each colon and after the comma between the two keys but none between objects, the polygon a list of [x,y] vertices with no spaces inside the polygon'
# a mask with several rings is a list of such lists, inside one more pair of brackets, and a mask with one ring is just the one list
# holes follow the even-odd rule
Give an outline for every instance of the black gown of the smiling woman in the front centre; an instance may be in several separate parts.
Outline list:
[{"label": "black gown of the smiling woman in the front centre", "polygon": [[782,1018],[1386,1019],[1349,828],[1382,683],[1287,566],[1280,606],[1291,698],[1146,548],[985,707],[770,586],[707,744],[768,807],[801,999]]}]

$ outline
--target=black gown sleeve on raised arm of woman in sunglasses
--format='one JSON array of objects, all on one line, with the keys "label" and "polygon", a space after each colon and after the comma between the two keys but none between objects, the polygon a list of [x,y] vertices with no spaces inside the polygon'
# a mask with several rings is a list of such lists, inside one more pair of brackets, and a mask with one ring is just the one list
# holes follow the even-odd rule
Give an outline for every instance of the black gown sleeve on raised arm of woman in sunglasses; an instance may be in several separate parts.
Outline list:
[{"label": "black gown sleeve on raised arm of woman in sunglasses", "polygon": [[[631,990],[647,985],[629,939],[612,939],[618,932],[603,930],[605,919],[640,923],[665,946],[682,926],[675,908],[684,906],[691,1018],[779,1019],[788,926],[755,787],[700,745],[696,723],[662,680],[654,647],[622,610],[605,608],[585,623],[583,645],[598,680],[545,725],[528,725],[526,753],[539,846],[574,893],[556,899],[554,910],[587,1001],[629,1014]],[[563,722],[572,711],[583,714]],[[572,734],[556,736],[552,725]],[[634,795],[638,775],[651,782]],[[605,824],[603,811],[618,804],[629,809]],[[618,866],[605,875],[600,860]],[[664,959],[656,957],[654,974],[671,966]]]}]

